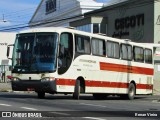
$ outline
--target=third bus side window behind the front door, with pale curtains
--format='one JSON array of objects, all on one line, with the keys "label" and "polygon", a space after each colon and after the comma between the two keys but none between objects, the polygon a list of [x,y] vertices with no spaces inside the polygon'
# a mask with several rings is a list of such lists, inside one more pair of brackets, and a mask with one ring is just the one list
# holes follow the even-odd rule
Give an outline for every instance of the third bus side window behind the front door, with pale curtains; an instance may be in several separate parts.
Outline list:
[{"label": "third bus side window behind the front door, with pale curtains", "polygon": [[119,58],[119,43],[107,41],[106,50],[109,58]]}]

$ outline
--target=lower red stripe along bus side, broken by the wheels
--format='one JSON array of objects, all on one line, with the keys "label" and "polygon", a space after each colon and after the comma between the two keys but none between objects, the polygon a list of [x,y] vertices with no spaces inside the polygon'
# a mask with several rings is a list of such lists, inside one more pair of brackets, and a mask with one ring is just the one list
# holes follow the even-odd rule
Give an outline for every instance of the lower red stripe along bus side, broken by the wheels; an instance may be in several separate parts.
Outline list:
[{"label": "lower red stripe along bus side, broken by the wheels", "polygon": [[[76,80],[72,79],[57,79],[57,85],[75,86]],[[105,81],[85,81],[86,87],[108,87],[108,88],[128,88],[129,83],[122,82],[105,82]],[[153,85],[136,84],[136,89],[153,89]]]}]

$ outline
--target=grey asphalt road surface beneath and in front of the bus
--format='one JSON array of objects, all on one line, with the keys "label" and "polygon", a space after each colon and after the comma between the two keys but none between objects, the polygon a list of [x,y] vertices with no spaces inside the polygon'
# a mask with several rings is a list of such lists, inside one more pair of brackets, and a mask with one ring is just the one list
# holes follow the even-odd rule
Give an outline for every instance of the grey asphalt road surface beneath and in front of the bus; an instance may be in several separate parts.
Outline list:
[{"label": "grey asphalt road surface beneath and in front of the bus", "polygon": [[8,114],[12,120],[22,117],[26,120],[36,119],[32,117],[46,120],[153,120],[160,118],[159,99],[159,96],[139,96],[131,101],[110,96],[106,100],[94,100],[91,95],[82,95],[80,100],[74,100],[72,95],[60,94],[47,94],[45,99],[38,99],[35,93],[0,92],[0,116],[3,116],[0,120],[9,119],[6,118]]}]

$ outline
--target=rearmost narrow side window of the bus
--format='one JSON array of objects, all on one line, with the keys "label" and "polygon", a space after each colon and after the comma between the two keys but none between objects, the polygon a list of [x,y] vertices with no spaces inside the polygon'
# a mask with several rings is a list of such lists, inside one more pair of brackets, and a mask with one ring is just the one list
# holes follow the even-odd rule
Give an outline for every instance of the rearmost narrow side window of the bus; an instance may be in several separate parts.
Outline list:
[{"label": "rearmost narrow side window of the bus", "polygon": [[152,50],[145,49],[144,54],[145,54],[145,63],[152,64]]}]

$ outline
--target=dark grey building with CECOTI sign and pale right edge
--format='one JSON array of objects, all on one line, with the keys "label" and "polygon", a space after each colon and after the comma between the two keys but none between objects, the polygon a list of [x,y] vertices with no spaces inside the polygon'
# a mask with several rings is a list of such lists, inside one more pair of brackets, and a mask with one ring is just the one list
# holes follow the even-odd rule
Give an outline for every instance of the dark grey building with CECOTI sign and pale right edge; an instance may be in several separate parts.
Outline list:
[{"label": "dark grey building with CECOTI sign and pale right edge", "polygon": [[[159,0],[122,0],[119,3],[107,3],[101,9],[86,13],[81,22],[71,22],[70,26],[80,28],[88,24],[98,24],[95,32],[109,37],[160,44],[159,6]],[[94,31],[94,27],[91,31]],[[157,51],[158,54],[154,56],[154,92],[160,94],[160,49]]]}]

